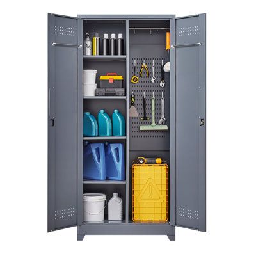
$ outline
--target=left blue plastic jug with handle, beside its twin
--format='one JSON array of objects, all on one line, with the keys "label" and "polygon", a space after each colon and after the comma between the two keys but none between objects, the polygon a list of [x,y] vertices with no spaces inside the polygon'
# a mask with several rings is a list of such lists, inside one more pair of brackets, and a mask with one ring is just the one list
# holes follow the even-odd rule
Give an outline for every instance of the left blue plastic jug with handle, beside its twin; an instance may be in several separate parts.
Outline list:
[{"label": "left blue plastic jug with handle, beside its twin", "polygon": [[83,178],[106,180],[105,148],[103,143],[84,146]]}]

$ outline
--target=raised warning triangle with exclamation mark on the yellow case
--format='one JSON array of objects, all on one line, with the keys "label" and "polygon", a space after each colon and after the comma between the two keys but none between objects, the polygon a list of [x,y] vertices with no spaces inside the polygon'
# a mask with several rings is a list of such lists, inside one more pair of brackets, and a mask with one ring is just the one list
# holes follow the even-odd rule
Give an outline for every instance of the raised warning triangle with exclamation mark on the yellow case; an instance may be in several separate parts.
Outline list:
[{"label": "raised warning triangle with exclamation mark on the yellow case", "polygon": [[163,202],[164,198],[161,195],[153,179],[148,179],[147,183],[140,192],[137,198],[138,202]]}]

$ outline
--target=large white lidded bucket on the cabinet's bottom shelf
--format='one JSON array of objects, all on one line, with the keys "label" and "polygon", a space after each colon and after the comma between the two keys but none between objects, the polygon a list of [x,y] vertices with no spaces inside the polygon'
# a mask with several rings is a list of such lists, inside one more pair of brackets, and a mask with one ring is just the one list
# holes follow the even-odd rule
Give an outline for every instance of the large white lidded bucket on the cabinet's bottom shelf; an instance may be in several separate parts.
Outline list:
[{"label": "large white lidded bucket on the cabinet's bottom shelf", "polygon": [[107,199],[105,194],[83,194],[83,221],[103,221]]}]

